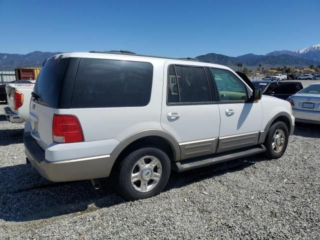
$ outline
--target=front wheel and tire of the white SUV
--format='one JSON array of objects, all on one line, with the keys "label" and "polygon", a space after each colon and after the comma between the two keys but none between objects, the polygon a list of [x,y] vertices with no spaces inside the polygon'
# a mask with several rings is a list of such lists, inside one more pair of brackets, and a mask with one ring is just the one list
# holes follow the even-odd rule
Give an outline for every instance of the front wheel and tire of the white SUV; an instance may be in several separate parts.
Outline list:
[{"label": "front wheel and tire of the white SUV", "polygon": [[288,137],[289,131],[283,121],[275,122],[270,126],[264,141],[266,157],[269,159],[281,157],[287,147]]}]

